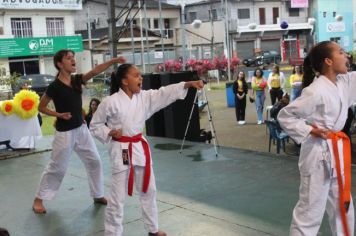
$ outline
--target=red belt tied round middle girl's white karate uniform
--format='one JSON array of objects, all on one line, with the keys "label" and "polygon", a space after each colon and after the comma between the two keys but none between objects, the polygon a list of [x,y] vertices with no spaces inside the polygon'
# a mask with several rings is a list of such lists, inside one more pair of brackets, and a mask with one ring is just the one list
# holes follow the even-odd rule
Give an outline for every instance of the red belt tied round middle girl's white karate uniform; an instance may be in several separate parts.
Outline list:
[{"label": "red belt tied round middle girl's white karate uniform", "polygon": [[129,174],[129,183],[128,183],[128,194],[130,196],[132,196],[134,173],[135,173],[134,166],[132,164],[132,143],[141,142],[146,157],[142,192],[146,193],[148,190],[148,185],[150,184],[150,177],[151,177],[151,156],[150,156],[150,147],[148,146],[147,141],[142,137],[142,134],[137,134],[133,137],[121,136],[120,138],[112,138],[112,140],[120,143],[129,143],[130,174]]}]

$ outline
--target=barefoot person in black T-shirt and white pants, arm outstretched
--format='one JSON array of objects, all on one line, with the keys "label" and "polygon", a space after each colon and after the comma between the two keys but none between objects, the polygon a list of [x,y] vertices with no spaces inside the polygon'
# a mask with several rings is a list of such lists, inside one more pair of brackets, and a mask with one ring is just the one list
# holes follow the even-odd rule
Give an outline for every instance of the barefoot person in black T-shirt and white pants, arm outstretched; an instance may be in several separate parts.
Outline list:
[{"label": "barefoot person in black T-shirt and white pants, arm outstretched", "polygon": [[[93,138],[85,125],[82,115],[82,84],[103,72],[114,63],[123,63],[122,57],[114,58],[98,65],[86,74],[72,75],[76,71],[74,52],[60,50],[53,58],[58,70],[57,78],[42,96],[39,111],[57,118],[56,132],[52,144],[50,161],[45,168],[33,203],[35,213],[46,213],[43,200],[51,200],[56,195],[71,153],[75,151],[85,165],[90,187],[90,195],[95,203],[106,204],[101,160]],[[47,107],[53,101],[55,110]]]}]

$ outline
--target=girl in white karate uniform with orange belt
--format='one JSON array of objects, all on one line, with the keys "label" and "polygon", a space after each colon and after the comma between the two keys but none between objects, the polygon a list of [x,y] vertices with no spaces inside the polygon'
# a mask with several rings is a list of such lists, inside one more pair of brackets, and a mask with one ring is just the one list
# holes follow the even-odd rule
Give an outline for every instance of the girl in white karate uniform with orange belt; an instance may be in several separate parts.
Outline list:
[{"label": "girl in white karate uniform with orange belt", "polygon": [[350,160],[345,135],[337,133],[345,124],[348,107],[356,101],[356,74],[347,73],[347,68],[346,54],[337,43],[315,45],[304,61],[302,95],[278,115],[282,128],[301,143],[292,236],[317,235],[325,210],[332,235],[354,235],[352,197],[350,191],[343,191]]}]

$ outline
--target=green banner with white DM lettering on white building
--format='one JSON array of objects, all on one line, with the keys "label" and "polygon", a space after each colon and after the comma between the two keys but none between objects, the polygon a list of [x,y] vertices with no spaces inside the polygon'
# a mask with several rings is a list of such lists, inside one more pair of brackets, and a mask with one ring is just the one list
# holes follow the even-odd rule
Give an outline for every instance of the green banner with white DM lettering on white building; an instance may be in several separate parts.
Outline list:
[{"label": "green banner with white DM lettering on white building", "polygon": [[83,51],[82,36],[0,39],[0,58],[52,55],[61,49]]}]

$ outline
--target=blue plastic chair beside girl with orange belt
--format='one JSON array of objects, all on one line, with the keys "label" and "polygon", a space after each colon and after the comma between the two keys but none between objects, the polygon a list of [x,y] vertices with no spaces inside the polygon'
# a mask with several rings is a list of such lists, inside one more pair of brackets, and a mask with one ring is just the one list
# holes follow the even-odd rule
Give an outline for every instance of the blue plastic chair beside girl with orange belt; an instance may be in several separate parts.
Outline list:
[{"label": "blue plastic chair beside girl with orange belt", "polygon": [[279,124],[274,120],[266,120],[266,126],[269,130],[269,145],[268,145],[268,152],[271,152],[271,142],[277,143],[277,153],[279,153],[281,149],[281,145],[283,147],[283,151],[286,151],[285,141],[289,140],[289,136],[285,133]]}]

